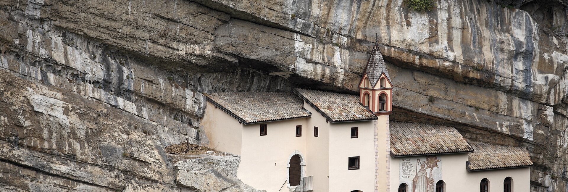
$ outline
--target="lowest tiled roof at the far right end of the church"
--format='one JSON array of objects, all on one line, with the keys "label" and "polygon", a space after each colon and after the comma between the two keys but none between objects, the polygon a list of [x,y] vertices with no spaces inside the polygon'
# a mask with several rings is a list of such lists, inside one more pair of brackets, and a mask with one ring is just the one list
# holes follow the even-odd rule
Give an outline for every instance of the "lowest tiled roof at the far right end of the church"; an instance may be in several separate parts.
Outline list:
[{"label": "lowest tiled roof at the far right end of the church", "polygon": [[525,148],[487,143],[472,143],[475,151],[467,155],[468,170],[484,170],[531,166],[531,155]]}]

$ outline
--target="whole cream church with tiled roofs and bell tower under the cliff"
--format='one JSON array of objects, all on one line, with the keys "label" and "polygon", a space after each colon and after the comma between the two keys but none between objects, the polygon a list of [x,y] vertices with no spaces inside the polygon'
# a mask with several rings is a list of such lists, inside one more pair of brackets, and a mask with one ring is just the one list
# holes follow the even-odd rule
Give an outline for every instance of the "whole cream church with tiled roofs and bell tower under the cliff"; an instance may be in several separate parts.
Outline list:
[{"label": "whole cream church with tiled roofs and bell tower under the cliff", "polygon": [[392,88],[375,44],[358,96],[299,88],[207,95],[203,140],[241,156],[237,177],[268,192],[529,191],[527,149],[391,122]]}]

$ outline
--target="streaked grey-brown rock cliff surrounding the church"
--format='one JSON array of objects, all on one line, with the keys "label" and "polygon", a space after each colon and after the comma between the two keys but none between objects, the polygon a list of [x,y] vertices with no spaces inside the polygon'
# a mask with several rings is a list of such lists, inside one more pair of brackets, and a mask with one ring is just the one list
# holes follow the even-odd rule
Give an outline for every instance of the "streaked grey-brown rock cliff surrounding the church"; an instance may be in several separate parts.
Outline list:
[{"label": "streaked grey-brown rock cliff surrounding the church", "polygon": [[204,95],[354,93],[375,38],[393,119],[527,147],[532,191],[565,189],[565,2],[436,4],[0,0],[0,189],[228,190],[187,184],[163,150],[199,142]]}]

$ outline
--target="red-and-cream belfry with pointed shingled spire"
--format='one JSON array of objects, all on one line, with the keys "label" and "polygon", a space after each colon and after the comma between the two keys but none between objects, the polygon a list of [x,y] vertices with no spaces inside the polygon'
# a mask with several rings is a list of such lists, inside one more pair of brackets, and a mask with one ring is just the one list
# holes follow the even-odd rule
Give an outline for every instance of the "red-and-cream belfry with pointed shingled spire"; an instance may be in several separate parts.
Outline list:
[{"label": "red-and-cream belfry with pointed shingled spire", "polygon": [[392,84],[377,43],[373,46],[359,83],[359,99],[361,105],[375,115],[387,115],[392,112]]}]

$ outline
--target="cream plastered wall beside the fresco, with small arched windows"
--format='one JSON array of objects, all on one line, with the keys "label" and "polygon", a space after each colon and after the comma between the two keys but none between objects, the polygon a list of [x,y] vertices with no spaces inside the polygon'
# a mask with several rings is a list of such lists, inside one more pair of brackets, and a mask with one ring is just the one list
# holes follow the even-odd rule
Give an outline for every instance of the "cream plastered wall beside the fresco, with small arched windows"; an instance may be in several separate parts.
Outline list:
[{"label": "cream plastered wall beside the fresco, with small arched windows", "polygon": [[[490,192],[503,191],[503,181],[507,177],[513,178],[513,191],[528,192],[530,189],[530,168],[510,168],[468,172],[466,170],[467,153],[453,155],[438,155],[442,162],[442,180],[445,182],[444,191],[479,192],[479,183],[483,178],[490,182]],[[400,161],[404,157],[391,158],[391,189],[398,191]],[[436,183],[438,181],[434,181]],[[412,183],[408,185],[408,192],[412,192]]]}]

